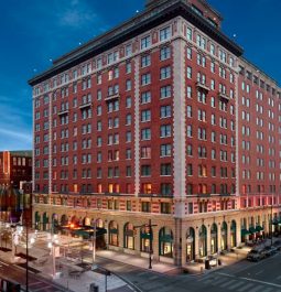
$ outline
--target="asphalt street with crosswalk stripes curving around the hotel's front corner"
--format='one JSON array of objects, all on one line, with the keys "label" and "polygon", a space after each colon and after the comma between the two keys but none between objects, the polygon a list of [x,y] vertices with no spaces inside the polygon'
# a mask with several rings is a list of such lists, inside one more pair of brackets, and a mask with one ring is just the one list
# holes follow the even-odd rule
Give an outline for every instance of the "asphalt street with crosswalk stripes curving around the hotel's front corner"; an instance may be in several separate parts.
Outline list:
[{"label": "asphalt street with crosswalk stripes curving around the hotel's front corner", "polygon": [[98,263],[143,292],[281,292],[281,255],[260,262],[241,261],[203,275],[165,275],[98,258]]}]

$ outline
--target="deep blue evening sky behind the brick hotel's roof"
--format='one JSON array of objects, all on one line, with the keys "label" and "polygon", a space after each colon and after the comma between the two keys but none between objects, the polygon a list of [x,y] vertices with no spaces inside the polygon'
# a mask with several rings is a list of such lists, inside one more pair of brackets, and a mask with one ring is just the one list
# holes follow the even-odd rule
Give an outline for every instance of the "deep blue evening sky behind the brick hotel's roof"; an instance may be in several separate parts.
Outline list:
[{"label": "deep blue evening sky behind the brick hotel's roof", "polygon": [[[209,0],[246,57],[281,84],[280,0]],[[31,88],[51,61],[142,10],[144,0],[0,0],[0,150],[32,148]]]}]

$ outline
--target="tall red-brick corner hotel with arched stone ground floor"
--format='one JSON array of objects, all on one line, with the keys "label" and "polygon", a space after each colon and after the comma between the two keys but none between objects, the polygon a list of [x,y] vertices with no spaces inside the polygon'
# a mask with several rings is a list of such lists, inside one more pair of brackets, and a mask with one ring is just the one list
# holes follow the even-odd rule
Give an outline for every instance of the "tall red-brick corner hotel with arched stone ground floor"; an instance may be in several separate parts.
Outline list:
[{"label": "tall red-brick corner hotel with arched stone ground floor", "polygon": [[183,266],[279,229],[281,94],[204,0],[143,12],[33,87],[33,219],[107,229],[110,249]]}]

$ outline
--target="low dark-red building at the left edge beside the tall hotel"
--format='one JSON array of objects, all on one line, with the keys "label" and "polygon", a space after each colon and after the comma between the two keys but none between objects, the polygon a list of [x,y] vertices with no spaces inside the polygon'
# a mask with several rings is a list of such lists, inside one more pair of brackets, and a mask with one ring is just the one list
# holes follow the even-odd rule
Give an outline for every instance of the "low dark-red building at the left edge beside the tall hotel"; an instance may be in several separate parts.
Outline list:
[{"label": "low dark-red building at the left edge beside the tall hotel", "polygon": [[[32,151],[0,152],[0,219],[19,221],[22,209],[29,209],[32,194]],[[24,197],[26,205],[24,206]]]}]

